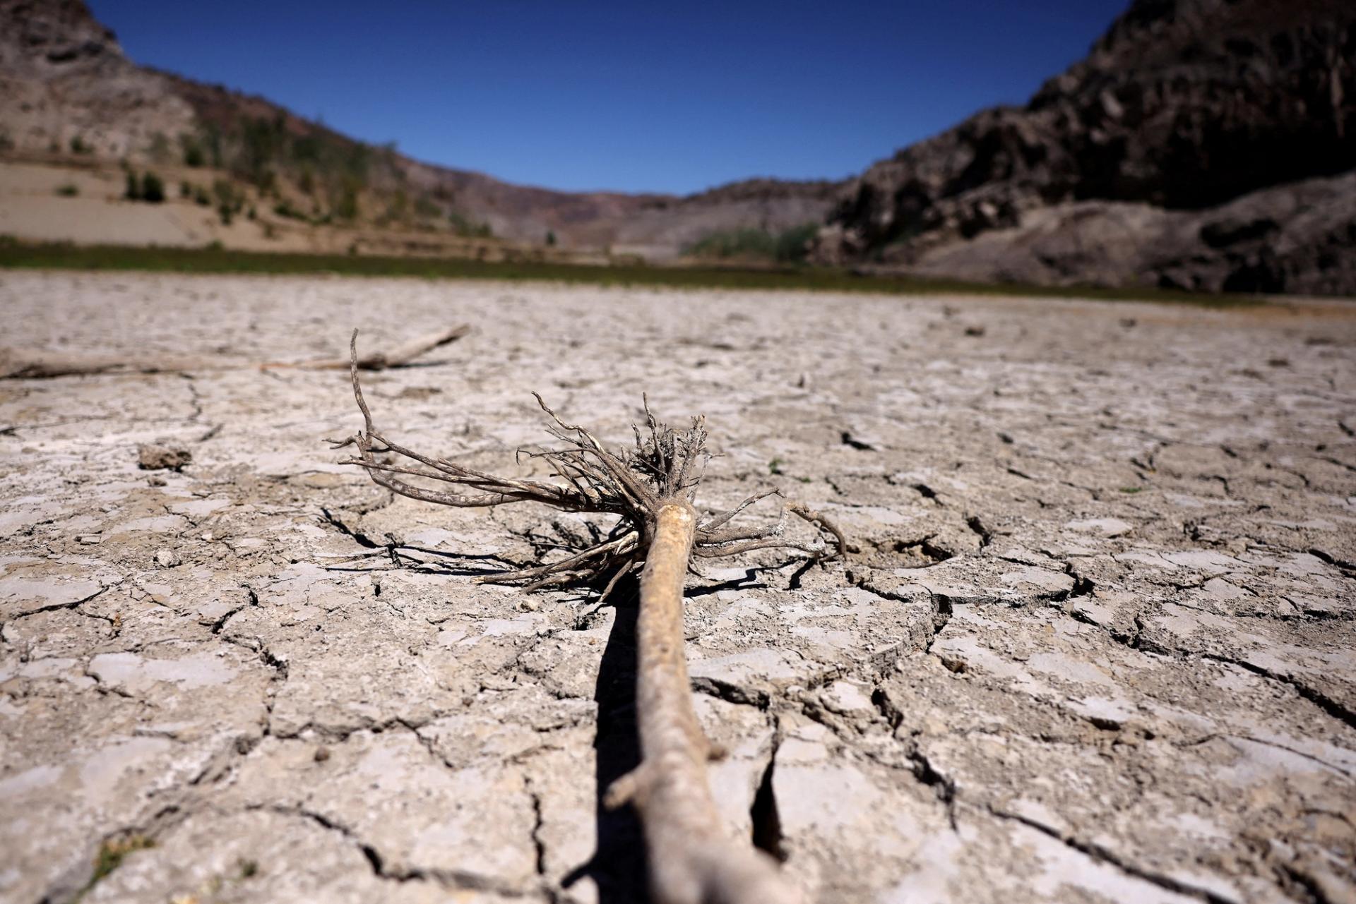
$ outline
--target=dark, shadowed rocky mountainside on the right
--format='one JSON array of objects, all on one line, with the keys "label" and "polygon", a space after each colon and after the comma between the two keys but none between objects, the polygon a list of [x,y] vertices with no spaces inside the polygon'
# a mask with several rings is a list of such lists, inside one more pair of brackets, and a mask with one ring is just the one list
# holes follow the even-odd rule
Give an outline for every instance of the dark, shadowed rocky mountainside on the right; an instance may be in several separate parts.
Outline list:
[{"label": "dark, shadowed rocky mountainside on the right", "polygon": [[845,186],[816,255],[1036,283],[1356,294],[1356,4],[1135,0],[1025,107]]}]

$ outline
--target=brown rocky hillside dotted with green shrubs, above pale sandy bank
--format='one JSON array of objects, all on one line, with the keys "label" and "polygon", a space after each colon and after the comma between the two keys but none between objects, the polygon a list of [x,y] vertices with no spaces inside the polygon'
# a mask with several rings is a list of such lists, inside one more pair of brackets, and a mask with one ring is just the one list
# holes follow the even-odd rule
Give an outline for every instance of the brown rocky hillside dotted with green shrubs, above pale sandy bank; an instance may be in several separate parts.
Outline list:
[{"label": "brown rocky hillside dotted with green shrubs, above pale sandy bank", "polygon": [[[564,192],[412,160],[258,96],[130,61],[83,0],[0,0],[0,150],[228,169],[308,215],[447,218],[521,243],[675,256],[713,230],[822,222],[833,183],[749,180],[689,195]],[[422,218],[422,220],[420,220]]]}]

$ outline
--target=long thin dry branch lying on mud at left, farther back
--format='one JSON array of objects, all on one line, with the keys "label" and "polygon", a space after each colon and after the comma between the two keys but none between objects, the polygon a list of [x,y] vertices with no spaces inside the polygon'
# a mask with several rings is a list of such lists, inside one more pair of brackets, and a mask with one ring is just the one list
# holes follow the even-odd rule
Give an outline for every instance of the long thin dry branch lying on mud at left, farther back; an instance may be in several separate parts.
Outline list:
[{"label": "long thin dry branch lying on mud at left, farther back", "polygon": [[[359,370],[385,370],[407,367],[434,348],[461,339],[471,327],[461,324],[422,336],[386,352],[366,355],[358,361]],[[71,377],[81,374],[182,374],[203,370],[273,370],[290,367],[296,370],[347,370],[347,358],[323,358],[300,362],[233,362],[222,358],[188,355],[152,355],[148,358],[126,358],[122,355],[64,354],[23,348],[0,350],[0,379],[35,379],[46,377]]]}]

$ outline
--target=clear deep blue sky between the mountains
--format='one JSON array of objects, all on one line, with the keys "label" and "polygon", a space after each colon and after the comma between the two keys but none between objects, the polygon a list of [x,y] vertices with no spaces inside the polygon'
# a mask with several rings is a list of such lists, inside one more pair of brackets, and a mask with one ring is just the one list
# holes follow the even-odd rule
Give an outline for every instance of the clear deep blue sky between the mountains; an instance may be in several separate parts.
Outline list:
[{"label": "clear deep blue sky between the mountains", "polygon": [[1081,58],[1128,0],[91,0],[137,62],[565,190],[839,179]]}]

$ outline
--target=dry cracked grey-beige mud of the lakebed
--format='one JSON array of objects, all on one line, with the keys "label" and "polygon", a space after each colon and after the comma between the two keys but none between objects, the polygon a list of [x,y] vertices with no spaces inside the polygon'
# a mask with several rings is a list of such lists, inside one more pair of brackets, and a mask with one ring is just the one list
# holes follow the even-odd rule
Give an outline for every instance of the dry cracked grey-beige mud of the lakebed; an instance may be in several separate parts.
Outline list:
[{"label": "dry cracked grey-beige mud of the lakebed", "polygon": [[[473,466],[544,436],[533,389],[616,442],[641,390],[705,413],[698,506],[772,484],[856,545],[689,583],[717,800],[814,900],[1356,895],[1341,306],[75,274],[0,302],[5,344],[239,361],[471,323],[365,385]],[[358,426],[331,371],[0,382],[0,900],[641,899],[598,805],[636,758],[633,591],[472,583],[578,519],[393,500],[323,442]],[[152,443],[191,462],[142,470]]]}]

